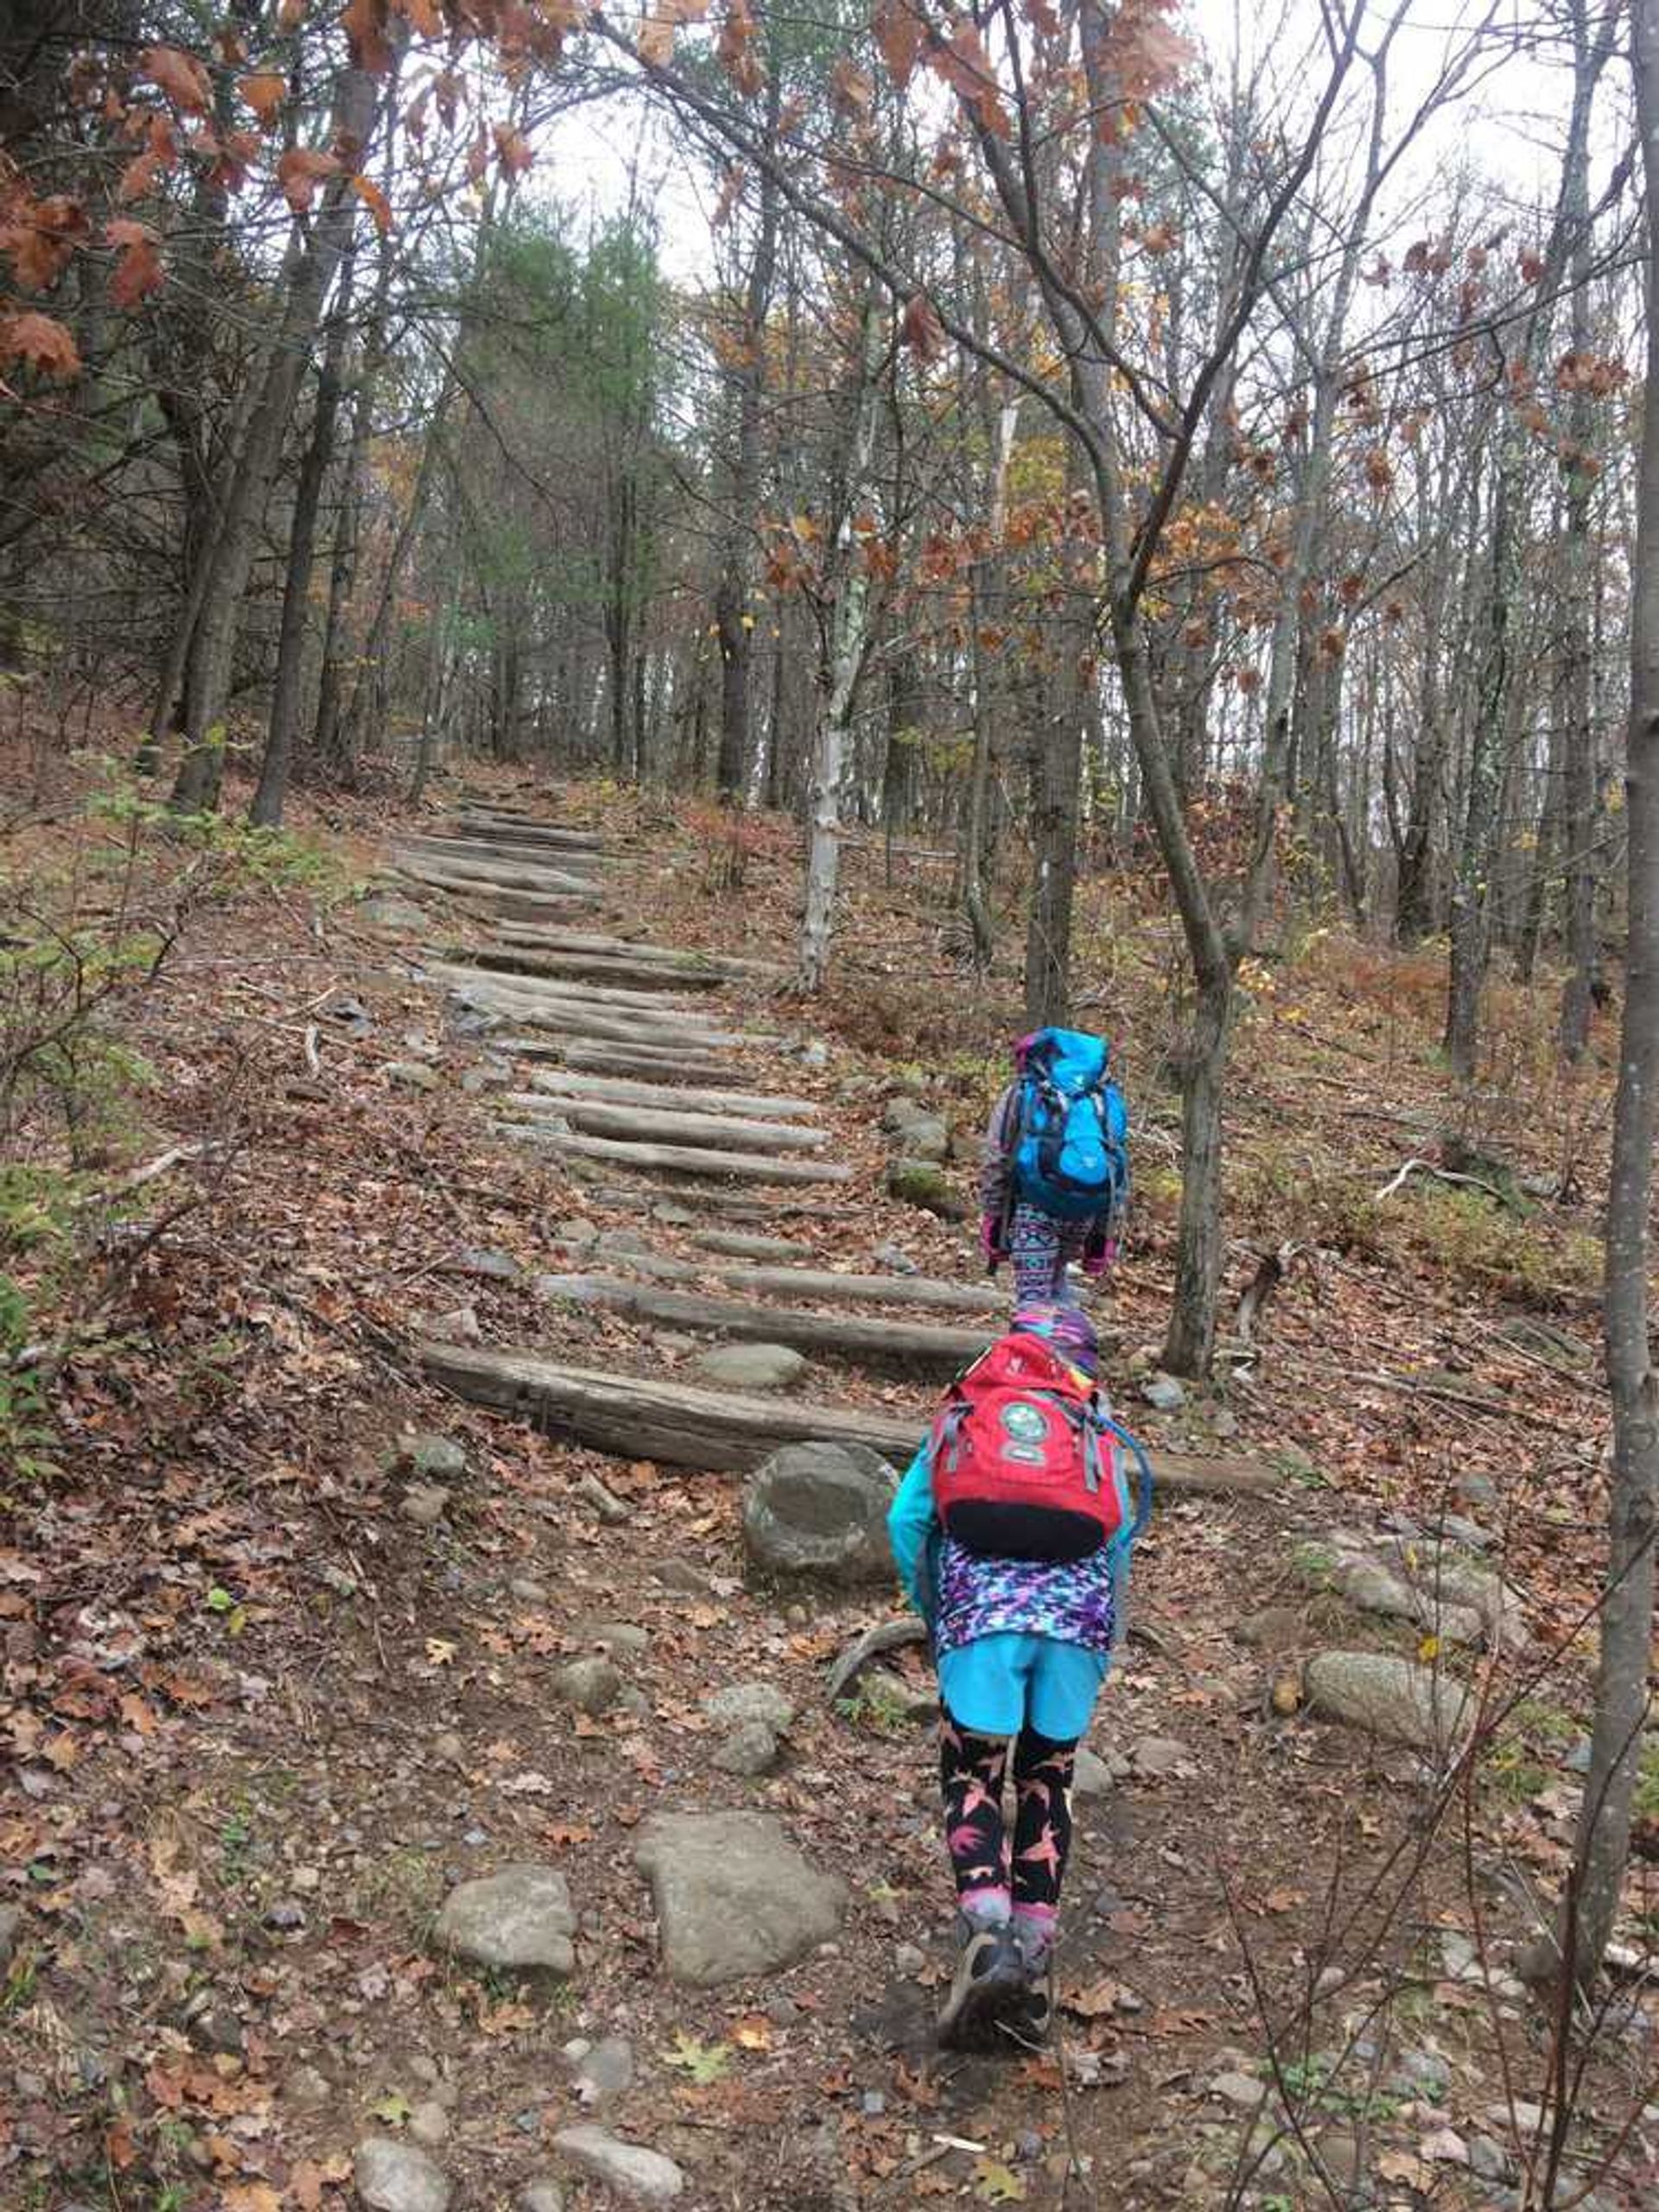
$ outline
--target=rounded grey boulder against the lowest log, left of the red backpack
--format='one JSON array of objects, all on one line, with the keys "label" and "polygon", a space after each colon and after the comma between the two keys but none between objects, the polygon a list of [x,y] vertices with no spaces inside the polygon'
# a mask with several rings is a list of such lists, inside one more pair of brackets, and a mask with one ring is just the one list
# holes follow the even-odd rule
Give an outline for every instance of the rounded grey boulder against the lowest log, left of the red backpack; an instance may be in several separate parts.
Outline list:
[{"label": "rounded grey boulder against the lowest log, left of the red backpack", "polygon": [[743,1544],[768,1575],[889,1588],[887,1506],[898,1475],[867,1444],[785,1444],[743,1489]]}]

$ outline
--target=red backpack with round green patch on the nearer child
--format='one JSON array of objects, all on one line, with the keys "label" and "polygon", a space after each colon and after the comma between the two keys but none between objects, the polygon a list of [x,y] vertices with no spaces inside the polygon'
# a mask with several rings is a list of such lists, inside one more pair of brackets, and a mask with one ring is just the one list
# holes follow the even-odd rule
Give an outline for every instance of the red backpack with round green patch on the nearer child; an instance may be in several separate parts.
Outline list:
[{"label": "red backpack with round green patch on the nearer child", "polygon": [[929,1436],[945,1533],[993,1559],[1088,1559],[1130,1531],[1106,1402],[1040,1336],[998,1338]]}]

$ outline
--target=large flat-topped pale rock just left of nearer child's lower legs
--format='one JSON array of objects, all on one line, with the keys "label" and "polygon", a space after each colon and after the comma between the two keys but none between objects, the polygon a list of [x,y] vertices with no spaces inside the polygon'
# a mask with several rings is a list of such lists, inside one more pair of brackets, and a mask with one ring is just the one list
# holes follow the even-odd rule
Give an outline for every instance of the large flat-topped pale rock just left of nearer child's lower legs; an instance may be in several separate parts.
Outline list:
[{"label": "large flat-topped pale rock just left of nearer child's lower legs", "polygon": [[655,1814],[633,1856],[657,1902],[668,1975],[692,1989],[794,1964],[847,1909],[847,1885],[818,1874],[770,1814]]}]

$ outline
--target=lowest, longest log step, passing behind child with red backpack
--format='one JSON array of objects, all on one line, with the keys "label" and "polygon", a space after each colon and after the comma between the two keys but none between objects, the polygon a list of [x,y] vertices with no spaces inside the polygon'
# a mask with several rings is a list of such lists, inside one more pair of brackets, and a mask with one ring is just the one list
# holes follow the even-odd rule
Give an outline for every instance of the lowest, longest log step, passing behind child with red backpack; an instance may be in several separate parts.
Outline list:
[{"label": "lowest, longest log step, passing behind child with red backpack", "polygon": [[[779,1444],[823,1440],[869,1444],[902,1469],[929,1420],[927,1407],[894,1416],[876,1407],[745,1398],[659,1376],[562,1367],[533,1352],[487,1352],[482,1345],[422,1343],[416,1356],[434,1380],[469,1405],[518,1413],[544,1436],[593,1451],[666,1467],[741,1473]],[[1152,1453],[1152,1478],[1164,1491],[1199,1498],[1265,1498],[1279,1489],[1274,1471],[1256,1460],[1197,1460],[1179,1451]]]}]

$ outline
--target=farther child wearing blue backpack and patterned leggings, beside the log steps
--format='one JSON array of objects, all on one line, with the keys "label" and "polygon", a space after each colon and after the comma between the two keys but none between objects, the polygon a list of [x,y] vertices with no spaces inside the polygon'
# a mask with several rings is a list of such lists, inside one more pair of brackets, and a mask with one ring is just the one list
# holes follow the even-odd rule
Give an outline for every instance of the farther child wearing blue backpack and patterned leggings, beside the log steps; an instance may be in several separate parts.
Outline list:
[{"label": "farther child wearing blue backpack and patterned leggings, beside the log steps", "polygon": [[1035,1029],[984,1135],[980,1250],[1013,1261],[1015,1305],[1066,1303],[1066,1267],[1099,1276],[1128,1201],[1128,1117],[1108,1048],[1075,1029]]}]

